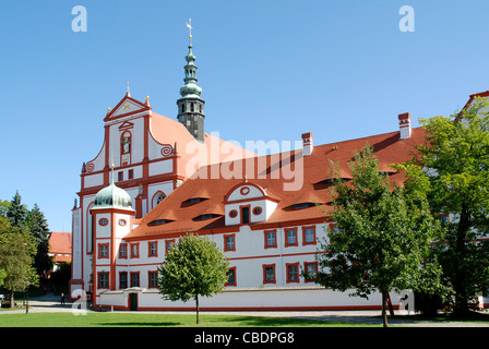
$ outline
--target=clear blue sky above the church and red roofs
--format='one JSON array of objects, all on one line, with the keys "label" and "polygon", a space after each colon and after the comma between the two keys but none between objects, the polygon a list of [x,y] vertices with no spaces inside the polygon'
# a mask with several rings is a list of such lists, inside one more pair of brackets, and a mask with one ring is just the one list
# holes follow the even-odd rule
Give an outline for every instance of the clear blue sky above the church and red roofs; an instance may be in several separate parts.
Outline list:
[{"label": "clear blue sky above the church and red roofs", "polygon": [[[87,11],[73,32],[72,8]],[[399,9],[415,11],[403,33]],[[449,116],[489,89],[487,0],[9,1],[0,12],[0,198],[19,190],[71,231],[83,161],[103,118],[131,96],[169,118],[189,17],[205,130],[314,144],[395,131],[397,115]]]}]

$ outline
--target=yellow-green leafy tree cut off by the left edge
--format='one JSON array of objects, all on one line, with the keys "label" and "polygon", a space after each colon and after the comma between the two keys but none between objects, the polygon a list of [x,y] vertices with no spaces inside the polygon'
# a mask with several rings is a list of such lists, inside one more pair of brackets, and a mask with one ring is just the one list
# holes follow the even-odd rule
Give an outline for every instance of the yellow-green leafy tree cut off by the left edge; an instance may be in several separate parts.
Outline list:
[{"label": "yellow-green leafy tree cut off by the left edge", "polygon": [[38,276],[32,266],[37,250],[36,241],[21,227],[12,227],[0,217],[0,270],[3,270],[3,288],[10,291],[10,306],[13,293],[23,291],[26,282],[38,284]]}]

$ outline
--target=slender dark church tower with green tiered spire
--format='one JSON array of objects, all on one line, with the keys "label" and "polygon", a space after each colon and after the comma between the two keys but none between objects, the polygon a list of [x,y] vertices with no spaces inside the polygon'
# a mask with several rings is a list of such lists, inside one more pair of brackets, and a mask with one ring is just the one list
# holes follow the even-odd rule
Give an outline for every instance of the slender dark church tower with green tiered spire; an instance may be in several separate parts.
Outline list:
[{"label": "slender dark church tower with green tiered spire", "polygon": [[[190,20],[189,20],[190,22]],[[177,100],[178,121],[183,123],[190,134],[198,141],[204,142],[204,104],[201,99],[202,88],[196,85],[195,56],[192,53],[192,26],[187,23],[190,29],[189,55],[186,56],[187,64],[183,67],[186,77],[184,85],[180,87],[181,98]]]}]

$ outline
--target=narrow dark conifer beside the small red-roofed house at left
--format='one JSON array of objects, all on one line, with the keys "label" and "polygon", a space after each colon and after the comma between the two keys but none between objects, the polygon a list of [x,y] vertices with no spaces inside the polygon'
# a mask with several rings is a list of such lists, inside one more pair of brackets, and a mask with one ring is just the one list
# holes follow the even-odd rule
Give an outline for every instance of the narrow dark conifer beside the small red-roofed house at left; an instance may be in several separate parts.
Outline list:
[{"label": "narrow dark conifer beside the small red-roofed house at left", "polygon": [[37,242],[37,253],[34,257],[34,265],[38,275],[43,275],[51,269],[52,262],[48,255],[49,252],[49,234],[48,222],[44,213],[37,204],[27,213],[26,217],[27,231]]}]

